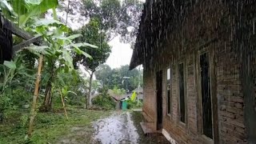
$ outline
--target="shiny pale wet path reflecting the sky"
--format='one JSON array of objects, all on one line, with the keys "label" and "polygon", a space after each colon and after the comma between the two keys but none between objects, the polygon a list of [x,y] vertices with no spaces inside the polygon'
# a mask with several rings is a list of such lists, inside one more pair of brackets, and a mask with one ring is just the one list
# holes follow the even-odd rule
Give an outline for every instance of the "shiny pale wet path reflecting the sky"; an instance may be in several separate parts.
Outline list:
[{"label": "shiny pale wet path reflecting the sky", "polygon": [[138,132],[130,112],[114,113],[94,123],[95,143],[138,143]]}]

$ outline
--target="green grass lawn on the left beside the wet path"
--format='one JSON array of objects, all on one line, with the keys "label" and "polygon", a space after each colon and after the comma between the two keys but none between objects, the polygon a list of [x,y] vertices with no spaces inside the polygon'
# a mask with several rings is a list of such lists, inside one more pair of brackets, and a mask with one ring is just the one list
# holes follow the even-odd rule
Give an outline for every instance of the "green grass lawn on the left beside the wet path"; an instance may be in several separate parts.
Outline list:
[{"label": "green grass lawn on the left beside the wet path", "polygon": [[5,121],[0,124],[0,143],[56,143],[64,135],[70,134],[72,127],[92,129],[91,122],[110,115],[111,111],[70,107],[67,109],[67,113],[68,120],[66,120],[63,110],[56,110],[53,113],[38,113],[34,122],[33,136],[30,141],[27,141],[25,138],[29,111],[7,111]]}]

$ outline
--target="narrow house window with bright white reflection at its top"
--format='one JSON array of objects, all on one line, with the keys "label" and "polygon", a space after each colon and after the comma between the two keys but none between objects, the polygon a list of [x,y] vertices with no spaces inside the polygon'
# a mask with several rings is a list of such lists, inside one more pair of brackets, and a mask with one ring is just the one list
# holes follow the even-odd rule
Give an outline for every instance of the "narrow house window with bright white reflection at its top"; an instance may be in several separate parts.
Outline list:
[{"label": "narrow house window with bright white reflection at its top", "polygon": [[167,114],[171,113],[171,70],[170,68],[167,69],[167,74],[166,74],[166,94],[167,94]]}]

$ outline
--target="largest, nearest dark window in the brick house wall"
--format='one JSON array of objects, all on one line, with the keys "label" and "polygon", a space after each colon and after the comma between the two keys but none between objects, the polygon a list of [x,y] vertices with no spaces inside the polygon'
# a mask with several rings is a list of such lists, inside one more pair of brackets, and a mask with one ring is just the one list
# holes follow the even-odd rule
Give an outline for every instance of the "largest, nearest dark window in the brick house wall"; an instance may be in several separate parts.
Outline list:
[{"label": "largest, nearest dark window in the brick house wall", "polygon": [[202,96],[202,134],[206,135],[208,138],[213,138],[208,53],[200,55],[200,75]]}]

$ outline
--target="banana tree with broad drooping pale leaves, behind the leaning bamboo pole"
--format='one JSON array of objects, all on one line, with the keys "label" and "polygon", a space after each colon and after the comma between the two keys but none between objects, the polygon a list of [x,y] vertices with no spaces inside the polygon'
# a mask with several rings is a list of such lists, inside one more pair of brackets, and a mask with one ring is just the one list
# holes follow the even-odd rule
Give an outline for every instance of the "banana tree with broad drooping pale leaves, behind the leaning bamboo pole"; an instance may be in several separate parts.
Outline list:
[{"label": "banana tree with broad drooping pale leaves, behind the leaning bamboo pole", "polygon": [[65,34],[70,30],[62,22],[49,19],[38,19],[32,27],[34,32],[41,35],[45,46],[30,46],[28,50],[34,54],[43,54],[44,60],[44,79],[46,82],[46,93],[41,111],[50,111],[52,106],[52,86],[55,82],[56,75],[65,70],[69,73],[70,70],[74,70],[73,54],[82,54],[86,58],[91,58],[89,54],[79,49],[80,46],[87,46],[90,48],[97,48],[97,46],[90,45],[89,43],[74,43],[74,38],[78,38],[80,34],[70,35],[66,37]]}]

